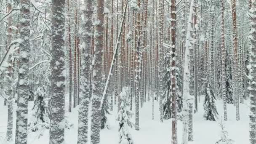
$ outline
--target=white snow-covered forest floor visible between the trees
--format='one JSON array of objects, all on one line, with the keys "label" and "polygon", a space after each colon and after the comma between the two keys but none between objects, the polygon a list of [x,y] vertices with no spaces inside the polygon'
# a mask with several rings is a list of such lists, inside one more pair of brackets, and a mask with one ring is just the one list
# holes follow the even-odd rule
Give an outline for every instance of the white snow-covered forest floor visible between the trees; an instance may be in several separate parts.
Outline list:
[{"label": "white snow-covered forest floor visible between the trees", "polygon": [[[194,141],[189,144],[215,144],[221,138],[221,128],[218,122],[206,121],[203,118],[203,98],[198,104],[198,112],[193,115],[193,134]],[[66,101],[66,111],[68,101]],[[155,105],[155,119],[152,120],[152,102],[147,102],[140,109],[140,130],[135,131],[130,128],[134,144],[171,144],[171,120],[164,120],[160,123],[159,104]],[[31,109],[33,102],[29,101],[29,117],[31,117]],[[115,106],[116,108],[117,106]],[[216,107],[219,112],[219,119],[223,116],[223,104],[216,101]],[[101,144],[118,144],[118,122],[116,119],[117,109],[114,108],[112,115],[109,115],[109,129],[105,128],[101,131]],[[72,128],[65,131],[65,143],[77,144],[77,123],[78,108],[73,108],[72,113],[67,113],[67,119],[74,124]],[[133,107],[134,110],[134,107]],[[235,107],[233,104],[227,106],[228,121],[224,122],[225,129],[229,134],[229,138],[234,140],[233,144],[249,144],[249,108],[248,101],[240,104],[240,121],[235,119]],[[16,105],[14,106],[14,123],[13,133],[15,133],[16,124]],[[133,116],[134,119],[134,116]],[[219,121],[219,120],[218,120]],[[3,106],[3,98],[0,98],[0,144],[6,144],[5,133],[7,125],[7,106]],[[90,120],[89,120],[90,125]],[[89,132],[90,133],[90,132]],[[14,139],[14,136],[13,136]],[[37,132],[29,133],[28,144],[48,144],[48,129],[42,129]],[[182,140],[182,122],[178,121],[178,144]],[[89,138],[90,141],[90,138]],[[14,144],[14,142],[13,142]]]}]

